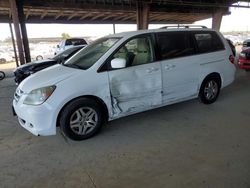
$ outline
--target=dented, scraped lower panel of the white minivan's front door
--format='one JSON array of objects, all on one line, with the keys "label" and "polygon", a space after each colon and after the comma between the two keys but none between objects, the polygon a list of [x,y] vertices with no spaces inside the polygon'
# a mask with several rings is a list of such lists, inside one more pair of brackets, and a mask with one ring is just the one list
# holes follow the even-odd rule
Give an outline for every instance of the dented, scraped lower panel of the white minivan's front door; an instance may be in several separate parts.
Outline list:
[{"label": "dented, scraped lower panel of the white minivan's front door", "polygon": [[162,104],[160,68],[150,63],[108,73],[114,117]]}]

